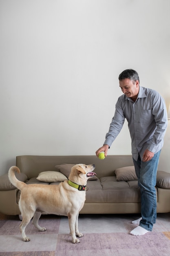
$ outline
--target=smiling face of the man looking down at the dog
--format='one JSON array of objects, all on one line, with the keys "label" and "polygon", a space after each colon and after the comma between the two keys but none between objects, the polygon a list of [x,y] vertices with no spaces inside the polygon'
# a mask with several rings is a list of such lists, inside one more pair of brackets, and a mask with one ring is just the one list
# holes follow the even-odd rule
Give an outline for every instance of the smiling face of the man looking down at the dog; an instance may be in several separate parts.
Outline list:
[{"label": "smiling face of the man looking down at the dog", "polygon": [[119,81],[119,86],[121,91],[133,100],[137,99],[137,94],[139,92],[139,81],[133,81],[128,78]]}]

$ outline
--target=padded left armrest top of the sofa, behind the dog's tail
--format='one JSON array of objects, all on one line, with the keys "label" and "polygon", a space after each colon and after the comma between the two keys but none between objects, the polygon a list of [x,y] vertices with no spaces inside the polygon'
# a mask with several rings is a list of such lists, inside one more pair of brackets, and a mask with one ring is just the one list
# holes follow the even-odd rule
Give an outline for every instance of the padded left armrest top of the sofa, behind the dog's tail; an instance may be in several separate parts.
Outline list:
[{"label": "padded left armrest top of the sofa, behind the dog's tail", "polygon": [[[25,182],[28,177],[24,173],[15,173],[15,176],[18,180]],[[15,186],[9,181],[8,173],[5,173],[4,175],[0,176],[0,190],[12,190],[16,189]]]}]

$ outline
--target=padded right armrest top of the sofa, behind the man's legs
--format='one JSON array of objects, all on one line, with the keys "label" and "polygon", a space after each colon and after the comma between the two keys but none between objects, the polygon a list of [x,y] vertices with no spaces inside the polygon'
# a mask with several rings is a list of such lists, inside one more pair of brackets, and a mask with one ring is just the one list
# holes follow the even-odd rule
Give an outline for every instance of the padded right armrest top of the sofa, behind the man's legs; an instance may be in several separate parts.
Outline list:
[{"label": "padded right armrest top of the sofa, behind the man's legs", "polygon": [[170,189],[170,173],[165,171],[157,171],[157,184],[163,189]]}]

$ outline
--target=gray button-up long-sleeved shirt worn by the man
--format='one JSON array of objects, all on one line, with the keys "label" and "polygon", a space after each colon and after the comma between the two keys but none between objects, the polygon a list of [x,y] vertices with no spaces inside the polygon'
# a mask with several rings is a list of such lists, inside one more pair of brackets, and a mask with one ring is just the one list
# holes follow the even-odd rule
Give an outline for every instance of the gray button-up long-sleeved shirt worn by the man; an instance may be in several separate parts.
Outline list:
[{"label": "gray button-up long-sleeved shirt worn by the man", "polygon": [[157,153],[163,146],[168,125],[164,99],[155,90],[139,86],[136,101],[121,95],[116,103],[115,115],[110,124],[104,144],[109,147],[119,134],[125,118],[132,140],[132,157],[141,159],[146,149]]}]

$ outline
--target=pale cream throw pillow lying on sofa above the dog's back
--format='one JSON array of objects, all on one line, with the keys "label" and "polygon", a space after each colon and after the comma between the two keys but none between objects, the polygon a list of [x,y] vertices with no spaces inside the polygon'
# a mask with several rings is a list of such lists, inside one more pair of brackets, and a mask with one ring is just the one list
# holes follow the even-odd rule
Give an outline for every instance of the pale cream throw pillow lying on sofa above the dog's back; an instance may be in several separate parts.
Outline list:
[{"label": "pale cream throw pillow lying on sofa above the dog's back", "polygon": [[42,182],[62,182],[67,180],[67,177],[58,171],[44,171],[39,173],[37,180]]}]

